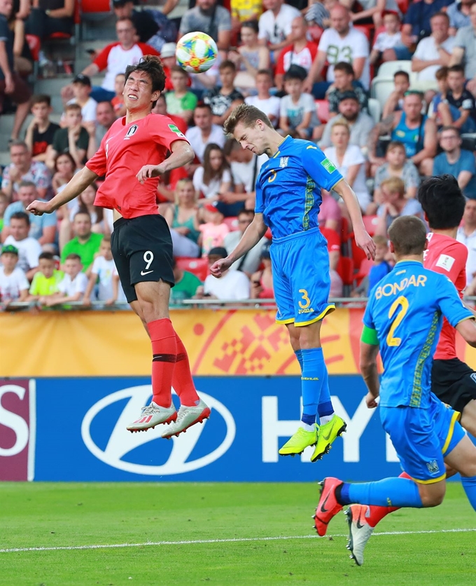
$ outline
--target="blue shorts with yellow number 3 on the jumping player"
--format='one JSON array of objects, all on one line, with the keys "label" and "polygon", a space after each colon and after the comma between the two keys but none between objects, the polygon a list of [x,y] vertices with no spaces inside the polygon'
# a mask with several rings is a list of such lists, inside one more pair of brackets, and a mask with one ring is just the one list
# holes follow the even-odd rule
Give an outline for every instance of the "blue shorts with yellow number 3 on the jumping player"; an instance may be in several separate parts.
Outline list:
[{"label": "blue shorts with yellow number 3 on the jumping player", "polygon": [[309,325],[335,310],[327,241],[318,228],[274,238],[271,248],[276,322]]}]

